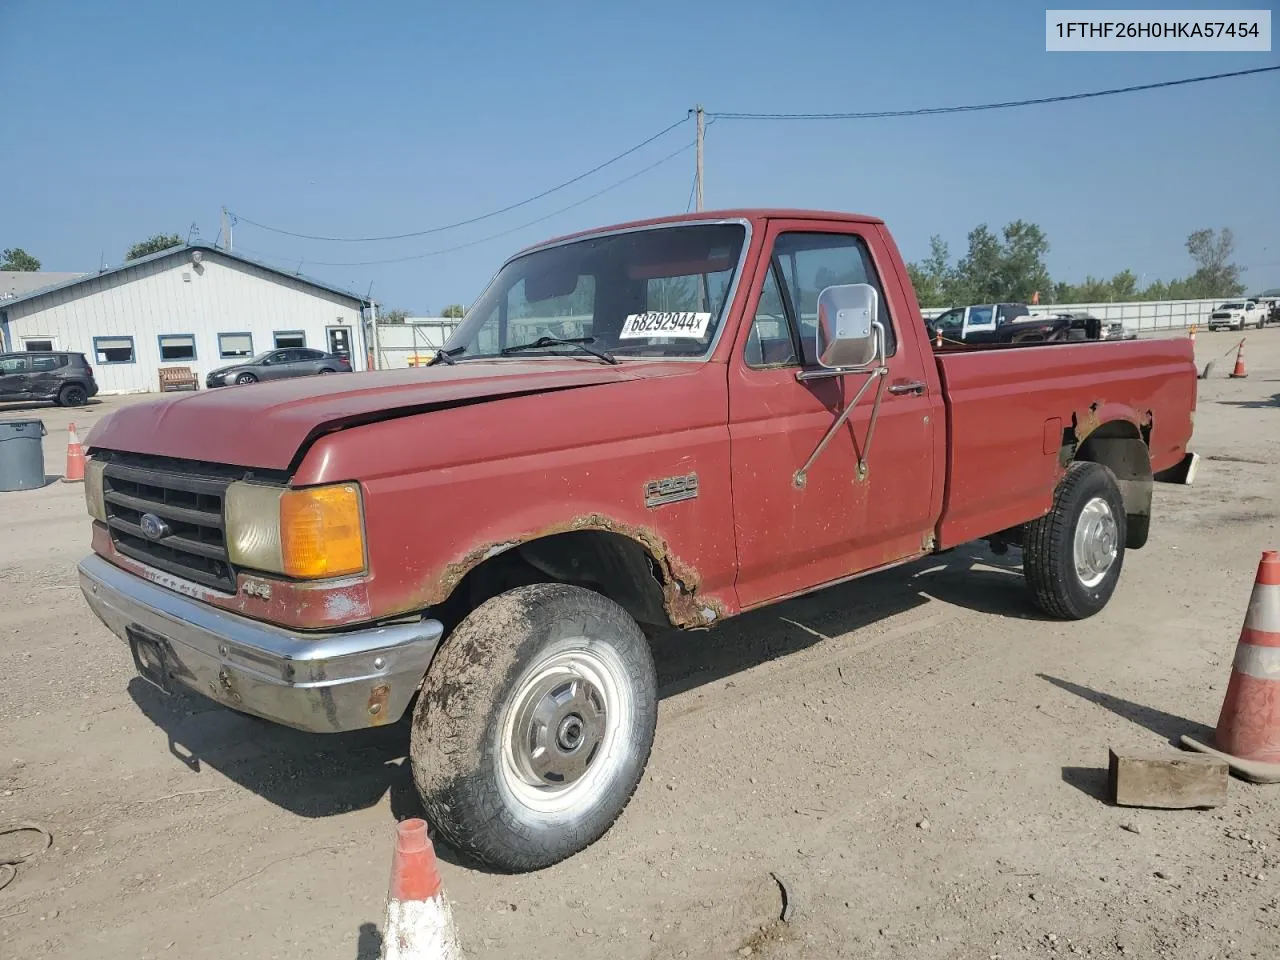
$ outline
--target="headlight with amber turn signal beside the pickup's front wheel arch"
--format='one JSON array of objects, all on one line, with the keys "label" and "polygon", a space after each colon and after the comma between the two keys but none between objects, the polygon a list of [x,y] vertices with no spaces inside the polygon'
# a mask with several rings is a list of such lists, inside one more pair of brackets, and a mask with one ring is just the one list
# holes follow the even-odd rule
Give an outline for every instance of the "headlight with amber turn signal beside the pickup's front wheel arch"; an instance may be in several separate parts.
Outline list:
[{"label": "headlight with amber turn signal beside the pickup's front wheel arch", "polygon": [[316,580],[365,568],[357,484],[291,490],[237,481],[227,488],[227,553],[239,567]]}]

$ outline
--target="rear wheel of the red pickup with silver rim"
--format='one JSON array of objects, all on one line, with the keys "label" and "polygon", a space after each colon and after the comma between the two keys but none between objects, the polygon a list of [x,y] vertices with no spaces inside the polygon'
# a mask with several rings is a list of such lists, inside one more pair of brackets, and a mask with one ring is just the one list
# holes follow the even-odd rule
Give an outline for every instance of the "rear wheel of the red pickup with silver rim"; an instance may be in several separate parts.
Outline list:
[{"label": "rear wheel of the red pickup with silver rim", "polygon": [[1036,605],[1060,620],[1085,620],[1106,607],[1126,535],[1115,474],[1101,463],[1071,463],[1052,509],[1023,532],[1023,572]]}]

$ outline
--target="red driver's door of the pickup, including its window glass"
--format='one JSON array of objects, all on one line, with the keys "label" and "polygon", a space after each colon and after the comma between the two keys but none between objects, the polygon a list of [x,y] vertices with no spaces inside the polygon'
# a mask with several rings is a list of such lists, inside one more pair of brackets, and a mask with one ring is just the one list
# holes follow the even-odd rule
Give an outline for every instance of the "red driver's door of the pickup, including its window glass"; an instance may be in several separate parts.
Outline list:
[{"label": "red driver's door of the pickup, including its window glass", "polygon": [[[728,375],[744,607],[920,554],[936,509],[934,431],[943,426],[936,376],[924,369],[932,355],[922,356],[920,332],[906,330],[910,308],[876,227],[777,220],[765,244],[771,256],[753,279]],[[874,385],[801,483],[797,471],[870,376],[832,376],[815,360],[818,293],[841,283],[879,291],[890,375],[865,475],[858,465]]]}]

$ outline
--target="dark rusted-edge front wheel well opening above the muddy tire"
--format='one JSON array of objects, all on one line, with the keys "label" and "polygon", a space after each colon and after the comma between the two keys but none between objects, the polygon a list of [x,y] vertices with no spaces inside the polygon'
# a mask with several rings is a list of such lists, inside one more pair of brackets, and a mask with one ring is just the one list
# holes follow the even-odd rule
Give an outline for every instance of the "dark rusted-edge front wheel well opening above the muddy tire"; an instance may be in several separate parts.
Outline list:
[{"label": "dark rusted-edge front wheel well opening above the muddy tire", "polygon": [[538,582],[594,590],[622,607],[646,631],[672,626],[664,605],[668,582],[663,566],[644,545],[607,530],[553,534],[489,557],[458,581],[438,616],[452,630],[485,600]]}]

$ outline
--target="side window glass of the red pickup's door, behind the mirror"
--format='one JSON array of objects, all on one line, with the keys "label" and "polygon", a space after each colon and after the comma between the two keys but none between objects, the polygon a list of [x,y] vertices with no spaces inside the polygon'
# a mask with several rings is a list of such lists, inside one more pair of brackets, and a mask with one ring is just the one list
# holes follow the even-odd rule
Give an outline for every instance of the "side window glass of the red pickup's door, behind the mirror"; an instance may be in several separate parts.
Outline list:
[{"label": "side window glass of the red pickup's door, behind the mirror", "polygon": [[897,352],[897,335],[884,302],[884,288],[870,252],[860,237],[842,233],[783,233],[773,246],[782,270],[787,306],[800,333],[805,366],[817,364],[818,294],[842,283],[869,283],[879,293],[879,321],[884,325],[884,355]]}]

